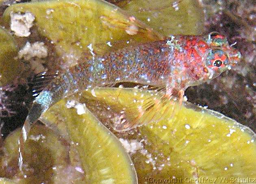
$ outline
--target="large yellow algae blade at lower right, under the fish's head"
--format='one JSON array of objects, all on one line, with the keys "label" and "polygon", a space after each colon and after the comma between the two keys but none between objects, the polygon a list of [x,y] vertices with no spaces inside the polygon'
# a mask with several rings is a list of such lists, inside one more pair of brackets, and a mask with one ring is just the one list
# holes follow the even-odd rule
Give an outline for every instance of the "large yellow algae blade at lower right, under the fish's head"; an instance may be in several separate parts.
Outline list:
[{"label": "large yellow algae blade at lower right, under the fish's head", "polygon": [[[131,104],[139,113],[139,102],[151,94],[138,89],[95,89],[93,95],[85,92],[82,101],[106,122],[121,111],[124,115]],[[221,183],[222,177],[232,183],[256,177],[256,135],[252,130],[215,111],[190,103],[174,104],[152,107],[156,116],[150,120],[142,117],[147,124],[137,128],[138,141],[146,140],[144,149],[132,156],[139,183],[150,182],[149,178],[180,178],[176,182],[186,183],[200,177],[216,179],[216,183]],[[104,107],[101,111],[100,105],[107,105],[112,112],[106,113]]]}]

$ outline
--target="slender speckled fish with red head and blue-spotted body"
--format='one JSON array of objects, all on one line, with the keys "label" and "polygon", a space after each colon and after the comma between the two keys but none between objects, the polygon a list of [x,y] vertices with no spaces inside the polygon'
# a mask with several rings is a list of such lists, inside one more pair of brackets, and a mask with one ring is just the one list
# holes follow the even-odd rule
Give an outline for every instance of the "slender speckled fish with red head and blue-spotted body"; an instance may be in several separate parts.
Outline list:
[{"label": "slender speckled fish with red head and blue-spotted body", "polygon": [[[180,96],[189,86],[209,81],[239,62],[241,54],[225,36],[216,32],[206,36],[170,38],[128,46],[105,56],[94,56],[56,77],[33,101],[20,145],[23,147],[30,126],[62,98],[95,87],[134,82],[165,88],[166,96]],[[20,152],[20,168],[22,153]]]}]

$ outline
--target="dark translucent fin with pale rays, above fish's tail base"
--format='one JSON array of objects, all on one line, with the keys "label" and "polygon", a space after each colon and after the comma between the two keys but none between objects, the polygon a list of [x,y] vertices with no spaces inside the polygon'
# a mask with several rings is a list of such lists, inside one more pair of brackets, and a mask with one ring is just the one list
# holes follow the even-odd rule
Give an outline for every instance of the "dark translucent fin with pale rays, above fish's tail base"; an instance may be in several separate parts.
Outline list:
[{"label": "dark translucent fin with pale rays, above fish's tail base", "polygon": [[55,72],[41,72],[33,78],[31,81],[33,96],[37,97],[39,93],[46,87],[48,84],[59,75],[59,71]]}]

